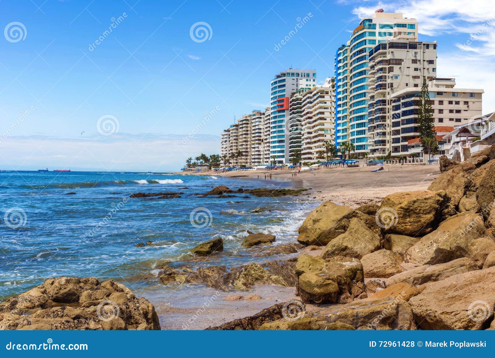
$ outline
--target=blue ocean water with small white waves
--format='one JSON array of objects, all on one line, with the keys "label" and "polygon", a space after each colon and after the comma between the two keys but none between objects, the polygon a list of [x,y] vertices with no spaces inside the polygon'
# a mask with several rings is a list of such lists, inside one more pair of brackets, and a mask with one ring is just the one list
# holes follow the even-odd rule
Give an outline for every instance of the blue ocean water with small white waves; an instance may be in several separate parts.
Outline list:
[{"label": "blue ocean water with small white waves", "polygon": [[[147,297],[161,290],[156,268],[187,260],[198,243],[222,237],[224,253],[211,264],[241,265],[253,260],[240,246],[247,230],[274,233],[278,244],[295,242],[297,228],[317,205],[306,195],[194,195],[217,185],[237,190],[289,183],[148,173],[0,172],[0,301],[61,275],[114,279]],[[178,191],[184,194],[174,199],[129,198],[137,192]],[[251,212],[257,208],[265,211]],[[136,246],[146,241],[153,243]]]}]

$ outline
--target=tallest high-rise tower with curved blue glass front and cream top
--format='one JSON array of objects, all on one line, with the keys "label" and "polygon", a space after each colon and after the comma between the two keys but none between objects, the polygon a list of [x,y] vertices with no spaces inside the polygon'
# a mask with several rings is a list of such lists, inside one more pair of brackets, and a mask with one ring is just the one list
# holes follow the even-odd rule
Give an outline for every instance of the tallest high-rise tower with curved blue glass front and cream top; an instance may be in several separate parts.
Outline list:
[{"label": "tallest high-rise tower with curved blue glass front and cream top", "polygon": [[335,55],[336,145],[354,144],[355,152],[368,152],[369,57],[376,45],[393,39],[417,41],[418,23],[400,13],[377,10],[361,20],[347,44]]}]

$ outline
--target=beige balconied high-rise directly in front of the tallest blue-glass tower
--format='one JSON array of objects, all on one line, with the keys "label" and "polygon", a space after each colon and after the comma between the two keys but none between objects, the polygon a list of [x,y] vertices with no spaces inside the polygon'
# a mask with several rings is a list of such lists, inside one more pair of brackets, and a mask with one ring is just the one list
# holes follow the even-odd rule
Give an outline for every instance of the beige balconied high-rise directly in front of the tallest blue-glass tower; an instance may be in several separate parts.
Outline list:
[{"label": "beige balconied high-rise directly in front of the tallest blue-glass tower", "polygon": [[400,128],[393,127],[392,96],[407,88],[417,93],[424,77],[430,81],[437,76],[437,43],[390,40],[369,51],[368,63],[368,152],[370,157],[394,155],[392,143],[399,143]]}]

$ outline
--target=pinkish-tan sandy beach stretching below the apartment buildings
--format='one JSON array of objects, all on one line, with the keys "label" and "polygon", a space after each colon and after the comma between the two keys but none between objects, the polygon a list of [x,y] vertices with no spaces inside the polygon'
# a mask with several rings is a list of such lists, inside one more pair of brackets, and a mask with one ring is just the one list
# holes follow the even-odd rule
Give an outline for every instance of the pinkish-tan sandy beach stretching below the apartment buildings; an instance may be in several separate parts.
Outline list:
[{"label": "pinkish-tan sandy beach stretching below the apartment buildings", "polygon": [[[252,170],[218,173],[214,171],[187,174],[259,180],[264,186],[265,175],[271,180],[290,183],[294,189],[311,189],[312,197],[334,201],[356,208],[362,204],[379,203],[388,194],[426,189],[439,174],[437,165],[390,165],[383,171],[377,167],[328,168],[301,171],[293,176],[291,170]],[[177,173],[179,174],[179,173]]]}]

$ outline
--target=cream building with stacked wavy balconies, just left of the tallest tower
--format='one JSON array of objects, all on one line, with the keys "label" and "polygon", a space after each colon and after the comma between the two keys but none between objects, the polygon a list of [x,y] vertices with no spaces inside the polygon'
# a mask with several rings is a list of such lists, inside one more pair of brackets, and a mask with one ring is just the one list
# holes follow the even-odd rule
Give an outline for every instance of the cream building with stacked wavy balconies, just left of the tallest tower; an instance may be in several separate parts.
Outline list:
[{"label": "cream building with stacked wavy balconies, just left of the tallest tower", "polygon": [[[335,141],[335,78],[305,91],[301,101],[301,161],[325,160],[325,142]],[[322,152],[324,154],[322,155]]]}]

